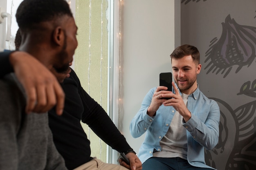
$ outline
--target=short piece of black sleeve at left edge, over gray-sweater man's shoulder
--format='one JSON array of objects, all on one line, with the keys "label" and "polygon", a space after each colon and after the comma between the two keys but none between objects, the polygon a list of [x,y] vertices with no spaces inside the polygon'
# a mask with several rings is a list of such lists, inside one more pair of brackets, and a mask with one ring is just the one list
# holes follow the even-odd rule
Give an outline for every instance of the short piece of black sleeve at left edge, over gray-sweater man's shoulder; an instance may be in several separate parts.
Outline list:
[{"label": "short piece of black sleeve at left edge, over gray-sweater man's shoulder", "polygon": [[12,52],[13,51],[0,52],[0,78],[4,77],[4,75],[7,75],[8,73],[13,72],[13,68],[9,61],[9,55]]}]

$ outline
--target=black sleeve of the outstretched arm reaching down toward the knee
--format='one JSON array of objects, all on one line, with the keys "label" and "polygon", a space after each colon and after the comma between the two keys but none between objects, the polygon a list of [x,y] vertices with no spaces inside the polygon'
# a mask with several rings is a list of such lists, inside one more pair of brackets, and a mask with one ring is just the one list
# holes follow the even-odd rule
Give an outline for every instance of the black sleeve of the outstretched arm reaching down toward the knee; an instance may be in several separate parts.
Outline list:
[{"label": "black sleeve of the outstretched arm reaching down toward the knee", "polygon": [[75,77],[84,108],[82,122],[88,124],[97,136],[118,152],[131,149],[124,135],[117,129],[106,111],[83,90],[78,77]]}]

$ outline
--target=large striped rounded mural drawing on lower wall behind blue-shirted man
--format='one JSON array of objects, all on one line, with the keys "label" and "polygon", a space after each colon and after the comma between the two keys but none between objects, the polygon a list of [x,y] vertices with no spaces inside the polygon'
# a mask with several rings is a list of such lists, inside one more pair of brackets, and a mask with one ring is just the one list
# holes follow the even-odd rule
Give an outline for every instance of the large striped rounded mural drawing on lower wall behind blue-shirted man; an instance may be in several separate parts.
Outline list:
[{"label": "large striped rounded mural drawing on lower wall behind blue-shirted man", "polygon": [[[233,110],[221,99],[214,99],[220,106],[220,137],[213,150],[205,150],[207,165],[218,170],[255,170],[256,167],[256,101]],[[221,162],[221,163],[220,163]]]}]

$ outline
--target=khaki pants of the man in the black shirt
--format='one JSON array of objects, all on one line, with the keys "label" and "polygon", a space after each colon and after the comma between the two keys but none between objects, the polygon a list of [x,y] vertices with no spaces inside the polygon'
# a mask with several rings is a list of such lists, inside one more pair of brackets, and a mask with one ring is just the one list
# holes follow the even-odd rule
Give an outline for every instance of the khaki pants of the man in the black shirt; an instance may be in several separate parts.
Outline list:
[{"label": "khaki pants of the man in the black shirt", "polygon": [[74,170],[128,170],[124,166],[104,163],[94,157],[91,161],[75,168]]}]

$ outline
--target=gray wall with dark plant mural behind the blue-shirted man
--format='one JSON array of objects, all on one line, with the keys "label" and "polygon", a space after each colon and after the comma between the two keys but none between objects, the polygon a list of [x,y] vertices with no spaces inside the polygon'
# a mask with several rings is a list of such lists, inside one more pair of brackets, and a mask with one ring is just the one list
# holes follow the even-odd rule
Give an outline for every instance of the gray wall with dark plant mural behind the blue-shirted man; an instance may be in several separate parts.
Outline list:
[{"label": "gray wall with dark plant mural behind the blue-shirted man", "polygon": [[221,110],[219,143],[206,151],[207,164],[255,170],[256,1],[193,1],[181,1],[181,44],[198,47],[199,88]]}]

